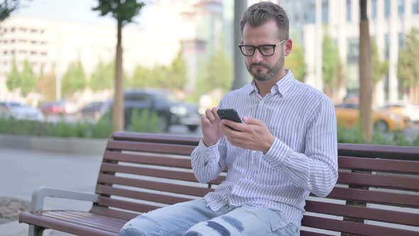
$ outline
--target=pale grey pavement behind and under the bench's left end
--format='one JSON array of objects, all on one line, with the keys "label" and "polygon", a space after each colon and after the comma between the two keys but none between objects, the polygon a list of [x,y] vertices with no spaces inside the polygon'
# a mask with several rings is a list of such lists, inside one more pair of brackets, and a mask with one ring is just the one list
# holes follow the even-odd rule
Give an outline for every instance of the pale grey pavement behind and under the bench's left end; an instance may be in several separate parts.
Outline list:
[{"label": "pale grey pavement behind and under the bench's left end", "polygon": [[[102,156],[0,148],[0,197],[30,201],[39,186],[93,193],[101,161]],[[90,206],[75,200],[45,200],[45,209],[88,210]],[[0,225],[0,235],[28,235],[28,226],[17,220],[6,222]],[[68,234],[47,230],[44,235]]]}]

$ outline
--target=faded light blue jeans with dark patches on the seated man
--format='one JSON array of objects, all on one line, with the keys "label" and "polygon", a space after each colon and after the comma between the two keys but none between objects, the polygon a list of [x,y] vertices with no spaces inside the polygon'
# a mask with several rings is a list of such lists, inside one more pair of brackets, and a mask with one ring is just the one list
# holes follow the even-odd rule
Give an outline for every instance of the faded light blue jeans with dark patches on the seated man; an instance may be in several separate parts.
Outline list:
[{"label": "faded light blue jeans with dark patches on the seated man", "polygon": [[281,211],[251,205],[213,211],[204,199],[197,199],[138,215],[126,222],[119,236],[300,235],[299,231]]}]

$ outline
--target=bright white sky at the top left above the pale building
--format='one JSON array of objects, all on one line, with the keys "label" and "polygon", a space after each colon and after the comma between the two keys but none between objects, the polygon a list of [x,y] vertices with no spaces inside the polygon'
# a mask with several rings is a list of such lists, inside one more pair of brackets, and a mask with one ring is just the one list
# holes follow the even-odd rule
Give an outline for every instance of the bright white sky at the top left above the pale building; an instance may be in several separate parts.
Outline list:
[{"label": "bright white sky at the top left above the pale building", "polygon": [[[153,0],[145,1],[146,6],[141,9],[140,15],[134,21],[146,25],[145,21],[150,18],[150,4]],[[13,12],[13,16],[29,16],[50,21],[67,23],[89,23],[105,26],[116,24],[111,16],[99,16],[99,11],[92,11],[97,6],[97,0],[23,0],[21,9]]]}]

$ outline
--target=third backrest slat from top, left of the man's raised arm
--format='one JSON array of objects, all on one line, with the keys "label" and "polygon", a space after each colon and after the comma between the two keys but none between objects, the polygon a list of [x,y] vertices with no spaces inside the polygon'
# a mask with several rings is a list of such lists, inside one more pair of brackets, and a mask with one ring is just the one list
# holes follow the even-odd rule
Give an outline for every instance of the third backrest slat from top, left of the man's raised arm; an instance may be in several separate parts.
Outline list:
[{"label": "third backrest slat from top, left of the man's raised arm", "polygon": [[155,166],[171,166],[188,169],[192,168],[190,159],[174,159],[170,157],[150,156],[147,154],[124,154],[119,151],[105,151],[104,159]]}]

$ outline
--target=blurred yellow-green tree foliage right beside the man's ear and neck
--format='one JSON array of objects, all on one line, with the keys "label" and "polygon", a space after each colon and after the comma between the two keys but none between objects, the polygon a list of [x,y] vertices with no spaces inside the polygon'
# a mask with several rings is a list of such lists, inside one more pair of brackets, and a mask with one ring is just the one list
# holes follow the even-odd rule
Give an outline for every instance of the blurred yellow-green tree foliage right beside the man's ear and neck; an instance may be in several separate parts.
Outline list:
[{"label": "blurred yellow-green tree foliage right beside the man's ear and neck", "polygon": [[289,68],[295,79],[304,82],[305,77],[305,57],[304,50],[298,44],[293,44],[293,51],[285,60],[286,68]]}]

